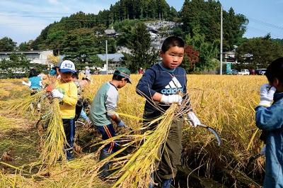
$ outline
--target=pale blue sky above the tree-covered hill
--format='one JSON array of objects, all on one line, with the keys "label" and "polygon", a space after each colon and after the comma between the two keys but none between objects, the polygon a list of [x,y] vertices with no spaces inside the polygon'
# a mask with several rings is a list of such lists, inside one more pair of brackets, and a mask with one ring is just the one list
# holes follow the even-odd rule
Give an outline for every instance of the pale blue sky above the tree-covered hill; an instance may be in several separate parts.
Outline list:
[{"label": "pale blue sky above the tree-covered hill", "polygon": [[[98,13],[109,9],[115,0],[1,0],[0,38],[9,37],[18,44],[34,40],[42,29],[62,16],[83,11]],[[178,11],[183,0],[167,0]],[[272,38],[283,38],[283,0],[221,0],[224,10],[233,7],[236,13],[245,15],[248,31],[244,36],[253,38],[271,33]],[[225,28],[224,28],[225,29]]]}]

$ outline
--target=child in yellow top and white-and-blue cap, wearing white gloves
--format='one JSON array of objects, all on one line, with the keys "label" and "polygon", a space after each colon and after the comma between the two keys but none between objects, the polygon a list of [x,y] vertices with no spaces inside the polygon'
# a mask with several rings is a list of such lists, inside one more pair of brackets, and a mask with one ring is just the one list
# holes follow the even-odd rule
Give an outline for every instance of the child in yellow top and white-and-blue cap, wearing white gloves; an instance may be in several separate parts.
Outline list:
[{"label": "child in yellow top and white-and-blue cap, wearing white gloves", "polygon": [[76,115],[76,101],[78,101],[78,91],[76,84],[72,81],[72,74],[76,72],[74,62],[64,60],[59,72],[61,79],[56,83],[56,89],[52,90],[52,96],[60,99],[60,113],[62,116],[64,132],[66,134],[68,145],[65,148],[67,160],[74,158],[74,136],[75,123],[74,117]]}]

